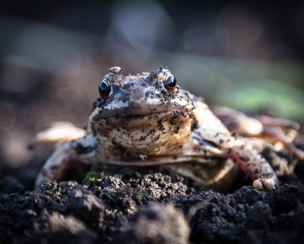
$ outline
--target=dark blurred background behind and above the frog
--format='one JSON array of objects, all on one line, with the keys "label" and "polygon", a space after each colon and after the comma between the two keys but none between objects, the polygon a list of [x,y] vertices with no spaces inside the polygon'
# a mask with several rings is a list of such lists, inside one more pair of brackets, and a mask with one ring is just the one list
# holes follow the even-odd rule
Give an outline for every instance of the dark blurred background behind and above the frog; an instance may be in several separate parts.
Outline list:
[{"label": "dark blurred background behind and above the frog", "polygon": [[209,105],[304,121],[304,3],[0,3],[0,177],[42,161],[44,123],[84,127],[106,67],[168,66]]}]

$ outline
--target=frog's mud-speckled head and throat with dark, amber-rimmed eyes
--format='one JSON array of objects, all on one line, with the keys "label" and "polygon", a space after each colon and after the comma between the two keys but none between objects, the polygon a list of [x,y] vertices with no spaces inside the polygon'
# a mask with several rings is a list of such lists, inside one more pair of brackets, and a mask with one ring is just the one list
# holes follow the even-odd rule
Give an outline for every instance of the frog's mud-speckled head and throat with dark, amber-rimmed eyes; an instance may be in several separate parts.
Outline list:
[{"label": "frog's mud-speckled head and throat with dark, amber-rimmed eyes", "polygon": [[167,67],[126,77],[120,67],[108,71],[89,119],[104,147],[149,155],[181,146],[196,123],[193,102]]}]

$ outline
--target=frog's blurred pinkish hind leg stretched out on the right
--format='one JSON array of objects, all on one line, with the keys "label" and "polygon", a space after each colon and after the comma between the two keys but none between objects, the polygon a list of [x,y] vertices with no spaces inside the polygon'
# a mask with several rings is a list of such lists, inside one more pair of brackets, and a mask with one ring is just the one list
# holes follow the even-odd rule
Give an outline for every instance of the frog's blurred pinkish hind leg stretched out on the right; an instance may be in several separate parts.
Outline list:
[{"label": "frog's blurred pinkish hind leg stretched out on the right", "polygon": [[215,107],[212,111],[230,131],[235,131],[242,136],[270,140],[276,143],[274,149],[280,150],[285,147],[300,160],[304,159],[304,152],[292,144],[300,129],[299,123],[265,115],[249,117],[240,111],[226,107]]}]

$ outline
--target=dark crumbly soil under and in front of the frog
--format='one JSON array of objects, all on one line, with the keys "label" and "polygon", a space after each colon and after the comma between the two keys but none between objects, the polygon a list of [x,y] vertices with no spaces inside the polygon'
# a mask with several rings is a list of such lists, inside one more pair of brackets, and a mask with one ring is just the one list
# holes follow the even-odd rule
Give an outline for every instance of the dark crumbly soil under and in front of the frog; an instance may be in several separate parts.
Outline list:
[{"label": "dark crumbly soil under and in front of the frog", "polygon": [[263,155],[282,182],[274,193],[239,185],[223,194],[169,169],[102,167],[82,183],[30,191],[26,176],[41,162],[2,178],[0,243],[304,243],[304,162]]}]

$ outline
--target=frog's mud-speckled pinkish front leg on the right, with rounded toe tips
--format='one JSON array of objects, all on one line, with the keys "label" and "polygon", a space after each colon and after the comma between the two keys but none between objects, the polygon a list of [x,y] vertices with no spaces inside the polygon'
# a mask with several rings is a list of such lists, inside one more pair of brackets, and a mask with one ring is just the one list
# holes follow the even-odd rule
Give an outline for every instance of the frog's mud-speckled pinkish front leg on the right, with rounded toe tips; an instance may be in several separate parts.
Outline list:
[{"label": "frog's mud-speckled pinkish front leg on the right, with rounded toe tips", "polygon": [[278,185],[279,181],[270,164],[241,138],[207,129],[196,130],[196,134],[199,134],[203,140],[218,145],[222,151],[221,156],[231,158],[250,179],[255,181],[256,189],[260,189],[263,185],[271,192],[274,186]]}]

